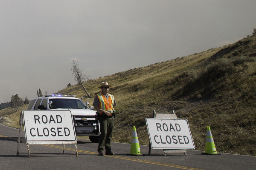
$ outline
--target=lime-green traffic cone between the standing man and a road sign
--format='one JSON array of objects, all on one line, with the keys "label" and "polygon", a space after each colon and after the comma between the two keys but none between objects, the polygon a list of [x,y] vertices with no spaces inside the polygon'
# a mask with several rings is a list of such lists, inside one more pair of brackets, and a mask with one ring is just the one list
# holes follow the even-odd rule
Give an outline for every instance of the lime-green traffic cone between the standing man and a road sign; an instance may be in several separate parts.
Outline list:
[{"label": "lime-green traffic cone between the standing man and a road sign", "polygon": [[126,155],[143,156],[143,154],[140,153],[140,144],[135,126],[132,127],[131,150],[130,153],[126,153]]}]

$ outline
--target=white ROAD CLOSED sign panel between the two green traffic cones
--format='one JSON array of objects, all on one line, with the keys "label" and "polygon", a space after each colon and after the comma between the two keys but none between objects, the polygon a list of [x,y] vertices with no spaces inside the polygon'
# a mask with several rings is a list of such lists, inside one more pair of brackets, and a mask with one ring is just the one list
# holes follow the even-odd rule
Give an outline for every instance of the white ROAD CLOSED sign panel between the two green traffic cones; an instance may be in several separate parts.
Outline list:
[{"label": "white ROAD CLOSED sign panel between the two green traffic cones", "polygon": [[187,119],[146,118],[153,149],[195,149]]}]

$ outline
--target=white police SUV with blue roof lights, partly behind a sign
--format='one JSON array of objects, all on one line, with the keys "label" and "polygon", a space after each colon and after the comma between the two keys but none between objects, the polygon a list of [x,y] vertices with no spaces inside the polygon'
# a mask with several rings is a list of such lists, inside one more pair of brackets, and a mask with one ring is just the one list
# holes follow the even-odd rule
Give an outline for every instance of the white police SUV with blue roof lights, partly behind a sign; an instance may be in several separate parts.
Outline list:
[{"label": "white police SUV with blue roof lights, partly behind a sign", "polygon": [[70,110],[75,118],[76,136],[89,136],[91,142],[99,142],[99,121],[96,111],[88,102],[75,95],[50,94],[32,99],[27,110]]}]

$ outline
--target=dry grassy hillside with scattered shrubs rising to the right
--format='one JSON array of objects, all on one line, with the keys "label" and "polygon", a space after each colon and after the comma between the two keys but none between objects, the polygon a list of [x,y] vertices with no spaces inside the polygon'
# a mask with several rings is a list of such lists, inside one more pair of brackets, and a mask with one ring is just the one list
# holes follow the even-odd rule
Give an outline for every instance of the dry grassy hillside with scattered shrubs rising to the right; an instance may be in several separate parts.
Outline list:
[{"label": "dry grassy hillside with scattered shrubs rising to the right", "polygon": [[[135,125],[148,145],[145,118],[175,111],[188,119],[196,150],[205,150],[210,126],[217,152],[256,156],[256,29],[224,47],[88,80],[91,96],[101,82],[116,98],[113,141],[131,142]],[[83,96],[78,85],[59,94]],[[86,99],[90,104],[93,99]]]}]

